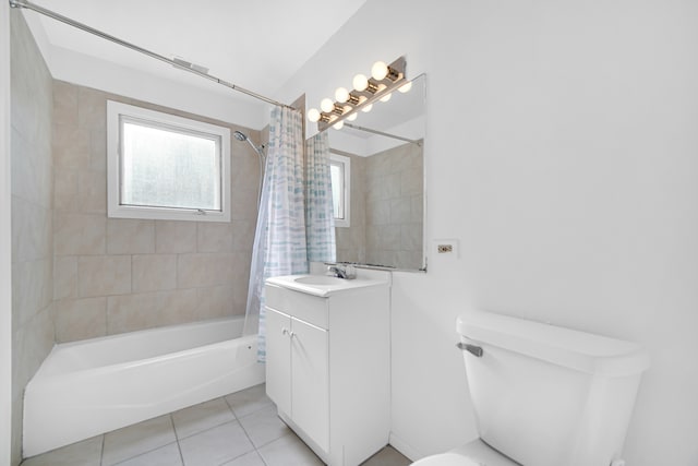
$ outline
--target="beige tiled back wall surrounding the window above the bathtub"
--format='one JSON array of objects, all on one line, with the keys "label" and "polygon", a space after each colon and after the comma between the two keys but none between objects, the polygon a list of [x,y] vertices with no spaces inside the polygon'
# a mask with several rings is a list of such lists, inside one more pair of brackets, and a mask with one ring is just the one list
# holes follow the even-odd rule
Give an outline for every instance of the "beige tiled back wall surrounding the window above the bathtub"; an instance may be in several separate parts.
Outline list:
[{"label": "beige tiled back wall surrounding the window above the bathtub", "polygon": [[243,314],[258,163],[231,136],[230,223],[107,217],[107,99],[260,132],[65,82],[53,84],[56,339]]}]

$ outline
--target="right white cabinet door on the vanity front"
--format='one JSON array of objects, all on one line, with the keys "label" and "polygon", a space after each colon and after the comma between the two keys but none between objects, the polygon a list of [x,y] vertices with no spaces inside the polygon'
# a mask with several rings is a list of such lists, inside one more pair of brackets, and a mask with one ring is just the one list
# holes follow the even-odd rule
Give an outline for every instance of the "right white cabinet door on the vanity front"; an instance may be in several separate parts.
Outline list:
[{"label": "right white cabinet door on the vanity front", "polygon": [[329,451],[328,334],[326,330],[304,321],[291,320],[293,422],[323,450]]}]

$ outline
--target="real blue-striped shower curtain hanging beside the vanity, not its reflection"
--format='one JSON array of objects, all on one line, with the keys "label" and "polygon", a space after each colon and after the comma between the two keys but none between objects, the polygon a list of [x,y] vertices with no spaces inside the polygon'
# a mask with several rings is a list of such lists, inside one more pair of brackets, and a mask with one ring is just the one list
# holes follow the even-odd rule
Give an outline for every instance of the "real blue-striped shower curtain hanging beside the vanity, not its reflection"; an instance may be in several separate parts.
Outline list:
[{"label": "real blue-striped shower curtain hanging beside the vanity, not its reflection", "polygon": [[244,328],[245,334],[257,330],[260,361],[266,360],[264,280],[308,273],[302,118],[298,110],[284,107],[272,110]]}]

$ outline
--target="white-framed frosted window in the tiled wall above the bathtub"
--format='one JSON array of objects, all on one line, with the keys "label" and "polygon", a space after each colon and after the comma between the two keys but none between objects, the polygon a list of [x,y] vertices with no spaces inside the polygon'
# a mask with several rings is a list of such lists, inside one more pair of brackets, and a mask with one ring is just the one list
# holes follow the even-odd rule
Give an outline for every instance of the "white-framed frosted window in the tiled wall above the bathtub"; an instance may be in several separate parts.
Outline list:
[{"label": "white-framed frosted window in the tiled wall above the bathtub", "polygon": [[107,103],[109,217],[230,220],[230,130]]}]

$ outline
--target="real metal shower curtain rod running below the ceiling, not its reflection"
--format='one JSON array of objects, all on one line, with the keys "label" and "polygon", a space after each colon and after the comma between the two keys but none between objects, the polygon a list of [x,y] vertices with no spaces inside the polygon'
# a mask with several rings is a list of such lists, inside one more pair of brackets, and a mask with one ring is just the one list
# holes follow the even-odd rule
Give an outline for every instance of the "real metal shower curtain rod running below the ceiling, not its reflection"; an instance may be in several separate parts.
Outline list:
[{"label": "real metal shower curtain rod running below the ceiling, not its reflection", "polygon": [[178,63],[174,60],[170,60],[169,58],[164,57],[164,56],[161,56],[159,53],[155,53],[154,51],[147,50],[147,49],[145,49],[143,47],[139,47],[139,46],[133,45],[131,43],[128,43],[125,40],[121,40],[118,37],[115,37],[115,36],[109,35],[107,33],[103,33],[101,31],[95,29],[94,27],[89,27],[86,24],[83,24],[83,23],[80,23],[77,21],[71,20],[70,17],[63,16],[62,14],[56,13],[56,12],[53,12],[51,10],[47,10],[47,9],[45,9],[43,7],[39,7],[38,4],[32,3],[32,2],[29,2],[27,0],[10,0],[10,7],[12,7],[12,8],[25,8],[27,10],[35,11],[37,13],[40,13],[40,14],[45,15],[45,16],[51,17],[51,19],[53,19],[56,21],[60,21],[61,23],[65,23],[65,24],[68,24],[70,26],[73,26],[73,27],[76,27],[79,29],[82,29],[82,31],[84,31],[86,33],[89,33],[89,34],[93,34],[95,36],[101,37],[103,39],[110,40],[110,41],[112,41],[115,44],[118,44],[120,46],[130,48],[130,49],[135,50],[137,52],[141,52],[143,55],[147,55],[148,57],[154,58],[156,60],[160,60],[160,61],[164,61],[166,63],[169,63],[172,67],[178,68],[180,70],[189,71],[190,73],[196,74],[197,76],[201,76],[201,77],[205,77],[205,79],[207,79],[209,81],[213,81],[215,83],[218,83],[220,85],[229,87],[229,88],[231,88],[233,91],[238,91],[238,92],[240,92],[242,94],[246,94],[246,95],[249,95],[251,97],[254,97],[256,99],[264,100],[267,104],[276,105],[276,106],[279,106],[279,107],[290,108],[292,110],[298,110],[297,108],[291,107],[290,105],[281,104],[280,101],[276,101],[276,100],[274,100],[272,98],[265,97],[265,96],[260,95],[257,93],[254,93],[252,91],[248,91],[248,89],[245,89],[243,87],[240,87],[238,85],[234,85],[234,84],[229,83],[227,81],[224,81],[221,79],[213,76],[213,75],[210,75],[208,73],[204,73],[204,72],[195,70],[193,68],[185,67],[185,65],[183,65],[181,63]]}]

